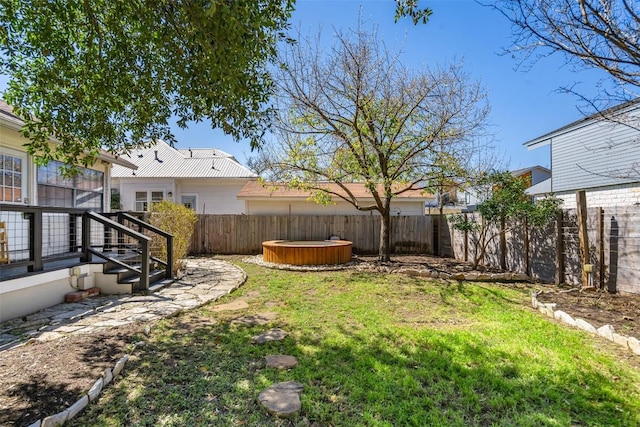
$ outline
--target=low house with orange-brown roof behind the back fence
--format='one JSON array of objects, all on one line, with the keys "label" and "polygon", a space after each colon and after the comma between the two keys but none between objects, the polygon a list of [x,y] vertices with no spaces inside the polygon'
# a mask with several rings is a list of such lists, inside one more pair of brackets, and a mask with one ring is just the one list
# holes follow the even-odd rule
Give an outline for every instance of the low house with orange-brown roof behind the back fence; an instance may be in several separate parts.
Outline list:
[{"label": "low house with orange-brown roof behind the back fence", "polygon": [[[364,184],[345,185],[363,205],[373,203],[373,196]],[[336,192],[343,193],[337,184],[327,184],[327,186]],[[245,213],[249,215],[375,215],[378,213],[357,210],[349,202],[337,196],[332,196],[331,203],[321,205],[310,199],[309,192],[290,190],[284,185],[262,185],[258,181],[247,182],[237,197],[245,204]],[[391,214],[424,215],[425,202],[433,199],[432,194],[421,190],[407,191],[391,200]]]}]

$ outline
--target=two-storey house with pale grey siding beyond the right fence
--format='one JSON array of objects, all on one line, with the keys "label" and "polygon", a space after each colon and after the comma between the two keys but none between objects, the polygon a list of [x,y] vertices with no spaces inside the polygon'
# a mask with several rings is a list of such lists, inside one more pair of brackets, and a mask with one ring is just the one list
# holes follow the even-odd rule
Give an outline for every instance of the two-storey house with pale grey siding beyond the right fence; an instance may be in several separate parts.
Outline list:
[{"label": "two-storey house with pale grey siding beyond the right fence", "polygon": [[553,193],[575,208],[577,190],[589,206],[640,204],[640,99],[582,118],[531,141],[530,150],[550,146],[550,180],[529,193]]}]

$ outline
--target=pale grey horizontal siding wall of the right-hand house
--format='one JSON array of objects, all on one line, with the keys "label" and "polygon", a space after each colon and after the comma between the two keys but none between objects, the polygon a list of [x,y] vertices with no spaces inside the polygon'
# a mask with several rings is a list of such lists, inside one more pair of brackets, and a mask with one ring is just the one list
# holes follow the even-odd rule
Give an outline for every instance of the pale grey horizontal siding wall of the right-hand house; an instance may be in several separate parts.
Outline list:
[{"label": "pale grey horizontal siding wall of the right-hand house", "polygon": [[[640,109],[628,112],[640,116]],[[638,181],[640,132],[612,121],[590,121],[551,140],[551,189],[561,193]]]}]

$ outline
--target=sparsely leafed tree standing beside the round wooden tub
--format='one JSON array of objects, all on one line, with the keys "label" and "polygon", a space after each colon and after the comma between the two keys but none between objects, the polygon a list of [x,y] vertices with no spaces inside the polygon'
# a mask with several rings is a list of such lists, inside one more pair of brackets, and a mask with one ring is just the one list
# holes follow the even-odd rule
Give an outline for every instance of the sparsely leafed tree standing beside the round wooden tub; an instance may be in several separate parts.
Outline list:
[{"label": "sparsely leafed tree standing beside the round wooden tub", "polygon": [[[459,65],[407,69],[375,31],[339,32],[326,54],[318,39],[298,40],[284,48],[274,79],[277,141],[252,164],[317,201],[337,197],[379,212],[379,259],[388,261],[391,200],[452,170],[438,164],[437,148],[483,132],[485,93]],[[349,182],[363,183],[374,202],[362,204]]]}]

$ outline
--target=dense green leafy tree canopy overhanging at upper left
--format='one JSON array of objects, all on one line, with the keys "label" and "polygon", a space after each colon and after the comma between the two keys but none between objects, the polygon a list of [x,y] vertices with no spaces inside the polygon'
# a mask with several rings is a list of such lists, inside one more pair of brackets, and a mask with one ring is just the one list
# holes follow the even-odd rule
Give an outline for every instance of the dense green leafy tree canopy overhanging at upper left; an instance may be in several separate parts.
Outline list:
[{"label": "dense green leafy tree canopy overhanging at upper left", "polygon": [[[2,0],[4,98],[42,163],[93,163],[99,149],[171,141],[208,119],[262,142],[293,0]],[[53,136],[59,142],[49,144]]]}]

